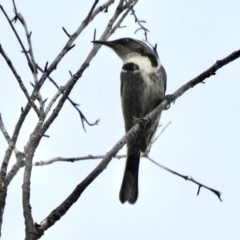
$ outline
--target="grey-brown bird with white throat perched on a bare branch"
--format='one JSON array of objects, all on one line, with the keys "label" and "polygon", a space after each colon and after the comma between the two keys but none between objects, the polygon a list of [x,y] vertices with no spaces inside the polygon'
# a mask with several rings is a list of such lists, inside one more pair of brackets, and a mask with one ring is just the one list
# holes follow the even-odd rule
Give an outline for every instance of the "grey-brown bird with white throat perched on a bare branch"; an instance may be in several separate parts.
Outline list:
[{"label": "grey-brown bird with white throat perched on a bare branch", "polygon": [[[121,101],[125,131],[161,103],[166,91],[166,72],[157,52],[147,43],[131,38],[115,41],[94,41],[110,47],[122,59]],[[160,115],[127,144],[127,162],[119,198],[134,204],[138,198],[138,169],[141,152],[153,137]]]}]

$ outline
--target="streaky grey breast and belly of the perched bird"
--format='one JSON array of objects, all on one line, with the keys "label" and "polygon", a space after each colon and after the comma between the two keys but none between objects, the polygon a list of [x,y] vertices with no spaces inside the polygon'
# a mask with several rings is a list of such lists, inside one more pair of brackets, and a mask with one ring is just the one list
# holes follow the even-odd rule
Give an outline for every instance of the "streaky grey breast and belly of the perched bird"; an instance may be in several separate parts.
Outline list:
[{"label": "streaky grey breast and belly of the perched bird", "polygon": [[125,124],[130,127],[133,117],[147,115],[157,106],[164,93],[158,72],[145,72],[136,66],[131,66],[131,71],[127,71],[130,65],[125,65],[121,72],[121,100]]}]

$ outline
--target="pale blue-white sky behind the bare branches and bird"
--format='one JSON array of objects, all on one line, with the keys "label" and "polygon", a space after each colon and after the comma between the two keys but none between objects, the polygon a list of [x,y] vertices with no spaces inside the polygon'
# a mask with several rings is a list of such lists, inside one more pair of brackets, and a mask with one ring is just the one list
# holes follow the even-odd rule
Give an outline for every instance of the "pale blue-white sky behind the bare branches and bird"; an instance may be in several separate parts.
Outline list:
[{"label": "pale blue-white sky behind the bare branches and bird", "polygon": [[[32,31],[36,62],[44,67],[61,51],[68,40],[62,31],[74,32],[85,18],[93,1],[16,1]],[[104,1],[100,1],[99,4]],[[12,18],[11,1],[0,1]],[[59,85],[69,79],[84,62],[92,48],[94,29],[97,38],[113,14],[100,14],[77,39],[72,49],[51,75]],[[139,1],[137,16],[146,20],[149,41],[158,44],[160,61],[168,76],[167,93],[196,77],[240,48],[240,2],[229,1]],[[110,39],[143,39],[132,16],[126,18]],[[27,42],[19,23],[17,29]],[[33,82],[26,59],[6,19],[0,13],[0,43],[11,58],[28,90]],[[27,48],[27,47],[26,47]],[[77,112],[66,102],[57,120],[37,149],[34,161],[53,157],[77,157],[108,152],[124,135],[120,105],[120,69],[122,62],[110,49],[101,48],[90,67],[76,84],[70,97],[81,105],[90,122],[100,118],[98,126],[82,129]],[[183,181],[146,159],[140,164],[139,198],[135,205],[122,205],[118,193],[125,160],[113,159],[107,169],[85,190],[67,214],[42,237],[45,240],[225,240],[240,236],[240,60],[230,63],[217,74],[189,90],[168,111],[161,124],[172,123],[154,144],[150,156],[179,173],[222,192],[222,200],[197,186]],[[0,57],[0,113],[9,134],[26,98]],[[40,74],[39,74],[40,76]],[[49,82],[43,98],[51,99],[56,89]],[[24,124],[17,148],[23,147],[32,132],[36,116],[31,111]],[[7,143],[0,135],[3,158]],[[124,154],[125,148],[119,153]],[[34,167],[31,206],[34,221],[40,223],[79,184],[100,160],[55,163]],[[10,167],[15,163],[12,157]],[[9,167],[9,169],[10,169]],[[3,240],[23,239],[25,226],[22,210],[23,169],[8,188],[2,229]]]}]

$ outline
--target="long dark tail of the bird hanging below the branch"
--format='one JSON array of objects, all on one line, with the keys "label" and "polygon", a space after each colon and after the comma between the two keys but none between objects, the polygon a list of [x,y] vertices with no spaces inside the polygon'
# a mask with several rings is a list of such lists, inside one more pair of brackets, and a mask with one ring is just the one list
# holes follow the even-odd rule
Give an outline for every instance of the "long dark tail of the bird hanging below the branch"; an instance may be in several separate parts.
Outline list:
[{"label": "long dark tail of the bird hanging below the branch", "polygon": [[137,201],[139,161],[140,151],[137,154],[127,156],[122,186],[119,193],[121,203],[128,201],[129,203],[134,204]]}]

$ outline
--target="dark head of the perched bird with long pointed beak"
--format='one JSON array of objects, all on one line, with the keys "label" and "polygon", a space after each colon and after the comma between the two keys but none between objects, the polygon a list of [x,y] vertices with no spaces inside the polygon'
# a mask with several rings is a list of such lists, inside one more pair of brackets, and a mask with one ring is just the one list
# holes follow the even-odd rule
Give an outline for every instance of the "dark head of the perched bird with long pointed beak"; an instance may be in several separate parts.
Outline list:
[{"label": "dark head of the perched bird with long pointed beak", "polygon": [[122,60],[127,62],[133,57],[147,57],[152,67],[159,66],[159,59],[154,49],[147,43],[132,38],[120,38],[114,41],[93,41],[93,43],[102,44],[110,47]]}]

